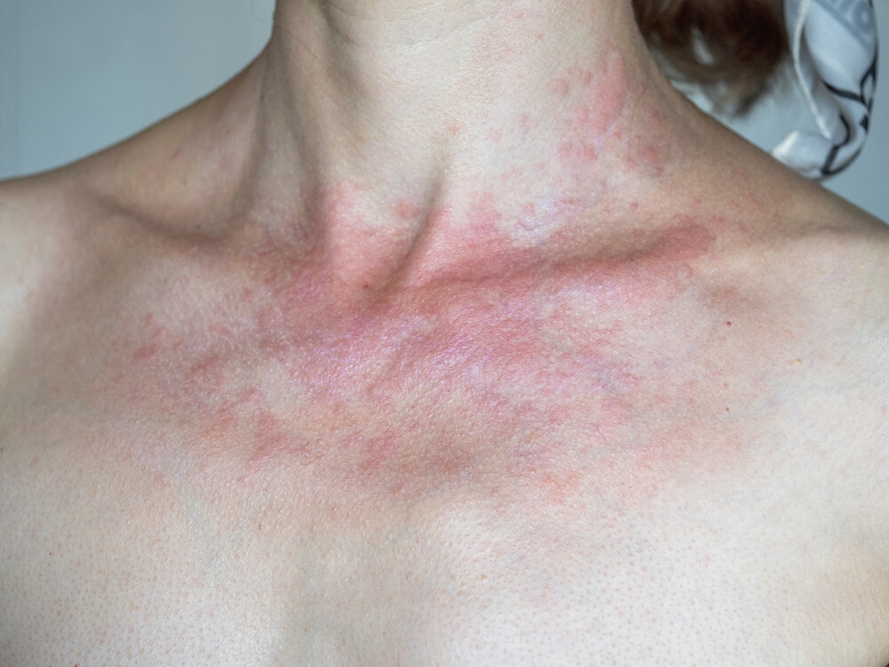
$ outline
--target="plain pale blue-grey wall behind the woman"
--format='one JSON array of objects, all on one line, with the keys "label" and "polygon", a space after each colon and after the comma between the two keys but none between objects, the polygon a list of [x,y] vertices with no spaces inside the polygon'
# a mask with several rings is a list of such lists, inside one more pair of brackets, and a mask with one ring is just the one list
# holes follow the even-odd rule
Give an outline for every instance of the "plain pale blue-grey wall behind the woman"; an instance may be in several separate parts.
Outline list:
[{"label": "plain pale blue-grey wall behind the woman", "polygon": [[[889,6],[876,4],[887,36]],[[274,0],[0,0],[0,179],[84,157],[203,97],[260,52],[273,11]],[[886,88],[864,153],[827,187],[889,221]],[[813,126],[792,83],[723,120],[763,149]]]}]

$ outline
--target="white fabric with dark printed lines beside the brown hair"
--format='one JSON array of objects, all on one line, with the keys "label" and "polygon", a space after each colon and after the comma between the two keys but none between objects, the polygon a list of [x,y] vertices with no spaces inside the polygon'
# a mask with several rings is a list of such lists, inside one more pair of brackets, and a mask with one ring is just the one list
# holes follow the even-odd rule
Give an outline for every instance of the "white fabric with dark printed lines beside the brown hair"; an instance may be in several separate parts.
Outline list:
[{"label": "white fabric with dark printed lines beside the brown hair", "polygon": [[772,155],[811,179],[841,172],[868,138],[877,85],[873,0],[785,0],[797,84],[817,132],[795,131]]}]

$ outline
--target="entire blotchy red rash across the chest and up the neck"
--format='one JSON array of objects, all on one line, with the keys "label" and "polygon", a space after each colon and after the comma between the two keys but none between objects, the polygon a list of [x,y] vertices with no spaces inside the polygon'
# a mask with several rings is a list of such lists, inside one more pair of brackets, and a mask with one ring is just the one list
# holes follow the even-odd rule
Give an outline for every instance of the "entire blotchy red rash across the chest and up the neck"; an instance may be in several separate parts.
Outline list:
[{"label": "entire blotchy red rash across the chest and up the neck", "polygon": [[[627,143],[625,79],[614,59],[595,75],[574,69],[550,85],[565,108],[554,157],[588,199],[599,195],[589,165]],[[511,123],[523,132],[532,125],[527,114]],[[501,141],[501,131],[489,139]],[[660,147],[629,147],[623,159],[632,169],[661,159]],[[509,167],[502,176],[525,178]],[[690,455],[670,439],[691,438],[692,427],[658,431],[646,419],[675,413],[686,398],[666,343],[679,344],[679,334],[669,338],[671,308],[714,247],[705,226],[677,218],[627,238],[624,250],[541,262],[518,242],[545,225],[557,229],[559,216],[582,214],[564,191],[514,211],[501,211],[487,191],[463,211],[396,199],[392,221],[405,230],[427,224],[404,239],[367,224],[363,195],[350,181],[317,193],[309,213],[324,231],[307,252],[287,258],[272,244],[227,257],[225,269],[196,274],[190,290],[218,298],[187,293],[178,326],[143,323],[129,361],[133,377],[155,384],[133,393],[160,396],[156,411],[186,430],[169,453],[179,471],[164,474],[247,489],[278,479],[318,502],[521,486],[561,505],[590,479],[635,476],[642,488],[659,465]],[[452,254],[423,255],[436,238]],[[547,240],[574,242],[558,230]],[[368,257],[404,261],[401,288],[374,301],[344,286],[373,294]],[[136,445],[133,454],[155,470],[156,449]]]}]

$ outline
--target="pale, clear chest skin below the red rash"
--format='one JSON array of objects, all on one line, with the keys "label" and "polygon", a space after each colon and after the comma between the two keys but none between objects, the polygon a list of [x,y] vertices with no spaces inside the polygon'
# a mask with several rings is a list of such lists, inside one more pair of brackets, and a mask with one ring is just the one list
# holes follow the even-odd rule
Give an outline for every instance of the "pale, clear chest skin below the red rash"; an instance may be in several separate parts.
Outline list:
[{"label": "pale, clear chest skin below the red rash", "polygon": [[566,440],[383,485],[96,422],[4,443],[11,663],[881,664],[882,571],[803,457],[670,477]]}]

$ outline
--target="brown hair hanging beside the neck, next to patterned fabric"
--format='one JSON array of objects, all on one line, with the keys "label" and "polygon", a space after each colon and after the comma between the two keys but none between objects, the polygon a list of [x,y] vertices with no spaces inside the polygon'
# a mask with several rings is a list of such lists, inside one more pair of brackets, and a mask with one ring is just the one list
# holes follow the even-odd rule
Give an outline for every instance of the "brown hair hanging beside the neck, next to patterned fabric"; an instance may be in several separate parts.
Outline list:
[{"label": "brown hair hanging beside the neck, next to patterned fabric", "polygon": [[633,0],[645,41],[669,73],[746,111],[789,52],[783,0]]}]

